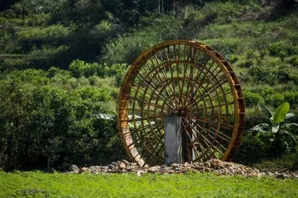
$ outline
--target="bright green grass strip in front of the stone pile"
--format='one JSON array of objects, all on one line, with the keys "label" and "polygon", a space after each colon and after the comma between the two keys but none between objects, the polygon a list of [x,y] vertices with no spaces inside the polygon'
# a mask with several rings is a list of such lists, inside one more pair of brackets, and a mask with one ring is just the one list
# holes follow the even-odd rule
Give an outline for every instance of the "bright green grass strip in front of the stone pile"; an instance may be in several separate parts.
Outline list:
[{"label": "bright green grass strip in front of the stone pile", "polygon": [[294,198],[298,180],[219,177],[214,174],[45,174],[0,172],[0,197],[219,197]]}]

